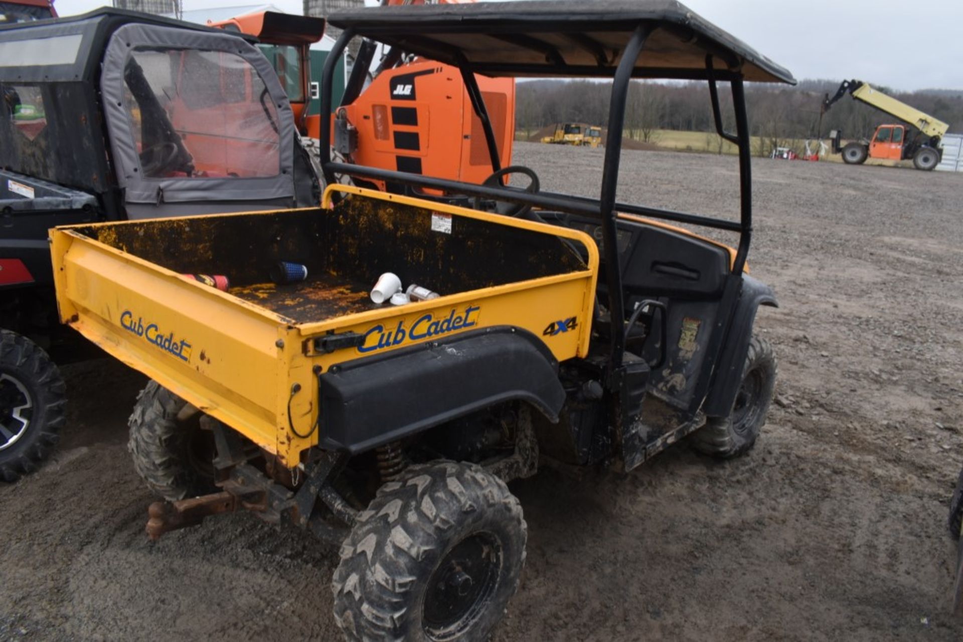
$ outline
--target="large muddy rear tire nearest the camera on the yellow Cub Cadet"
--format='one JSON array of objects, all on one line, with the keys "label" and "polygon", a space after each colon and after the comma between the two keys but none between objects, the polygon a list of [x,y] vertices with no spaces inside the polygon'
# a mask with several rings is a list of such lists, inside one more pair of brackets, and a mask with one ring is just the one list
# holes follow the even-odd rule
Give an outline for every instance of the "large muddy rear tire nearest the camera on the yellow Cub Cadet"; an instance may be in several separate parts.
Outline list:
[{"label": "large muddy rear tire nearest the camera on the yellow Cub Cadet", "polygon": [[351,640],[481,642],[525,564],[522,508],[475,464],[409,468],[384,484],[341,547],[334,617]]}]

